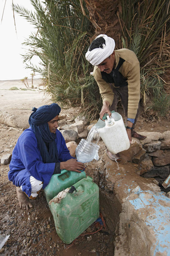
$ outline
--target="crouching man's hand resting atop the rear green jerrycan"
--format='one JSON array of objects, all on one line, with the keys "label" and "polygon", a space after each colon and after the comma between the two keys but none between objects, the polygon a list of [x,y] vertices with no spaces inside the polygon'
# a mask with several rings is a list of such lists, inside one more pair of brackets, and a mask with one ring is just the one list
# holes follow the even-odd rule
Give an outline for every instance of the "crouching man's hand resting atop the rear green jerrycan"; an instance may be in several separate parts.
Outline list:
[{"label": "crouching man's hand resting atop the rear green jerrycan", "polygon": [[81,173],[80,170],[84,169],[84,163],[77,162],[77,159],[71,158],[66,162],[61,162],[60,169],[66,169],[67,171]]}]

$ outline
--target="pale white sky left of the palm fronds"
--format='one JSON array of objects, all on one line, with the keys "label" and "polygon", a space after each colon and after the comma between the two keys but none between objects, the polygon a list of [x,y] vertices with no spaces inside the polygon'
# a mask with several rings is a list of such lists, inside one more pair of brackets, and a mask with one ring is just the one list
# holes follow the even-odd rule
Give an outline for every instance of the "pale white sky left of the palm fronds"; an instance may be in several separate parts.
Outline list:
[{"label": "pale white sky left of the palm fronds", "polygon": [[[13,0],[14,4],[24,6],[29,10],[33,7],[29,0]],[[25,46],[22,45],[24,38],[28,38],[34,27],[28,23],[23,17],[15,13],[15,23],[17,35],[15,31],[12,0],[6,0],[4,14],[2,18],[3,7],[5,0],[0,0],[0,80],[22,79],[24,77],[31,78],[31,69],[26,69],[23,64],[22,56]],[[1,22],[2,19],[2,22]],[[38,58],[35,58],[32,63],[38,64]],[[35,78],[39,78],[36,75]]]}]

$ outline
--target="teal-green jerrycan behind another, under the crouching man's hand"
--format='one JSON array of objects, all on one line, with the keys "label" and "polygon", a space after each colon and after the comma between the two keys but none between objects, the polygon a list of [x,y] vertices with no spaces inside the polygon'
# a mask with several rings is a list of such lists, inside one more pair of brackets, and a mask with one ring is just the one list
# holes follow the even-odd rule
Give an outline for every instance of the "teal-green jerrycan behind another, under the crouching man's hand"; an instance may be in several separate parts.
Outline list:
[{"label": "teal-green jerrycan behind another, under the crouching man's hand", "polygon": [[[74,183],[82,178],[85,178],[85,171],[81,173],[67,171],[65,169],[61,170],[59,174],[53,174],[51,176],[50,182],[44,188],[45,197],[49,205],[49,201],[55,197],[60,191],[72,186]],[[51,210],[51,205],[49,205]]]}]

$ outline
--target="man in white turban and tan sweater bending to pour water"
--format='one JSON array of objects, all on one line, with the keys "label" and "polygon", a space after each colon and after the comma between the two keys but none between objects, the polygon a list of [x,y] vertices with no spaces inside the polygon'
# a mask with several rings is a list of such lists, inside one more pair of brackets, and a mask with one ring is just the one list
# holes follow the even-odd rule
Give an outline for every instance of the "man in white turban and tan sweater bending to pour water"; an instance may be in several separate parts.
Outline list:
[{"label": "man in white turban and tan sweater bending to pour water", "polygon": [[[101,34],[90,44],[85,58],[95,66],[93,76],[103,99],[100,119],[104,113],[111,116],[110,111],[116,111],[121,98],[131,143],[132,137],[140,140],[146,138],[133,130],[139,115],[140,66],[134,52],[128,49],[114,51],[114,48],[114,39]],[[108,150],[107,154],[112,160],[121,160],[119,154],[114,155]]]}]

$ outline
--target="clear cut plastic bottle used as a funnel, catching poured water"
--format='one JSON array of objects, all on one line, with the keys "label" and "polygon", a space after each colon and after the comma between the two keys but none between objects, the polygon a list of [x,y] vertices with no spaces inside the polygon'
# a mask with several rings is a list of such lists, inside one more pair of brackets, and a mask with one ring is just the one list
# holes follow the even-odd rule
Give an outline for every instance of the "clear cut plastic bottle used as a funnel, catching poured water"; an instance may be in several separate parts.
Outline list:
[{"label": "clear cut plastic bottle used as a funnel, catching poured water", "polygon": [[[79,145],[75,149],[75,154],[78,162],[88,163],[98,157],[100,146],[96,143],[81,139]],[[97,159],[98,160],[98,159]]]}]

